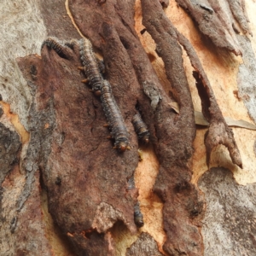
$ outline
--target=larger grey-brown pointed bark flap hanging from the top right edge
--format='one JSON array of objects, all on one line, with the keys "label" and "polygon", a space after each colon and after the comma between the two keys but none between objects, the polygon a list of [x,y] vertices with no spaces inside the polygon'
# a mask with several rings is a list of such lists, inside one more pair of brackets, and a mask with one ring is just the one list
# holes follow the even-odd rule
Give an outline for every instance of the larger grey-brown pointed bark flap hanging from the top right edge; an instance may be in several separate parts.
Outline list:
[{"label": "larger grey-brown pointed bark flap hanging from the top right edge", "polygon": [[[230,36],[229,28],[224,26],[224,20],[218,18],[214,5],[211,6],[212,0],[209,0],[210,3],[204,1],[203,4],[190,0],[176,0],[176,2],[189,12],[200,31],[208,38],[211,38],[213,44],[220,48],[228,49],[235,55],[241,55],[241,49],[239,44],[236,43],[236,38]],[[214,11],[209,11],[209,9]],[[218,9],[216,10],[218,12]]]}]

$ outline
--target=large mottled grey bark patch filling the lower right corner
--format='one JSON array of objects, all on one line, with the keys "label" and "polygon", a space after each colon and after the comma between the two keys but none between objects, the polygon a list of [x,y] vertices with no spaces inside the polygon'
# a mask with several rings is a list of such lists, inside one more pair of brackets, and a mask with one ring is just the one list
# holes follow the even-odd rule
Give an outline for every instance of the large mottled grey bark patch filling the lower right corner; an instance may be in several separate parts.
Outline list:
[{"label": "large mottled grey bark patch filling the lower right corner", "polygon": [[205,255],[255,255],[256,184],[241,186],[229,170],[212,168],[199,187],[207,202],[202,226]]}]

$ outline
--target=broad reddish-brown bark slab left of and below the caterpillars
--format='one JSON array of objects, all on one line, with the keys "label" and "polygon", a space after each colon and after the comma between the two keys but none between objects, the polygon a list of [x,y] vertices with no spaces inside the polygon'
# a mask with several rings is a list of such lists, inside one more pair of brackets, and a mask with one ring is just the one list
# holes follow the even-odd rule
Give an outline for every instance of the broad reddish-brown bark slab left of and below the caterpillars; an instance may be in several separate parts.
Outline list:
[{"label": "broad reddish-brown bark slab left of and below the caterpillars", "polygon": [[[43,130],[52,131],[48,148],[43,144],[39,149],[42,153],[50,148],[47,159],[40,160],[49,212],[78,255],[107,255],[111,239],[105,233],[116,221],[124,222],[131,232],[137,229],[133,222],[136,198],[125,189],[137,166],[137,151],[124,155],[112,149],[101,102],[80,82],[79,49],[63,59],[44,47],[42,60],[23,59],[20,67],[27,79],[32,79],[27,71],[31,66],[38,71],[34,81],[38,113],[34,115],[55,106],[55,125],[38,122]],[[134,135],[131,145],[136,142]]]}]

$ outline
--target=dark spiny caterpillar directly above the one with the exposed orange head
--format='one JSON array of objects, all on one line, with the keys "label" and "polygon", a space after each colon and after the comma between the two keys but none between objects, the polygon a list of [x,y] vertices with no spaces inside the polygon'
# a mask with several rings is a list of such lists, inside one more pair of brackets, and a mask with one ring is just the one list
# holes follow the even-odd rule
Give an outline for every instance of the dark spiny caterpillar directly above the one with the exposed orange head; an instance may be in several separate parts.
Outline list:
[{"label": "dark spiny caterpillar directly above the one with the exposed orange head", "polygon": [[89,79],[92,91],[96,92],[96,95],[100,95],[103,79],[96,55],[92,50],[90,40],[87,38],[79,40],[79,47],[80,58],[84,66],[84,73],[87,79]]}]

